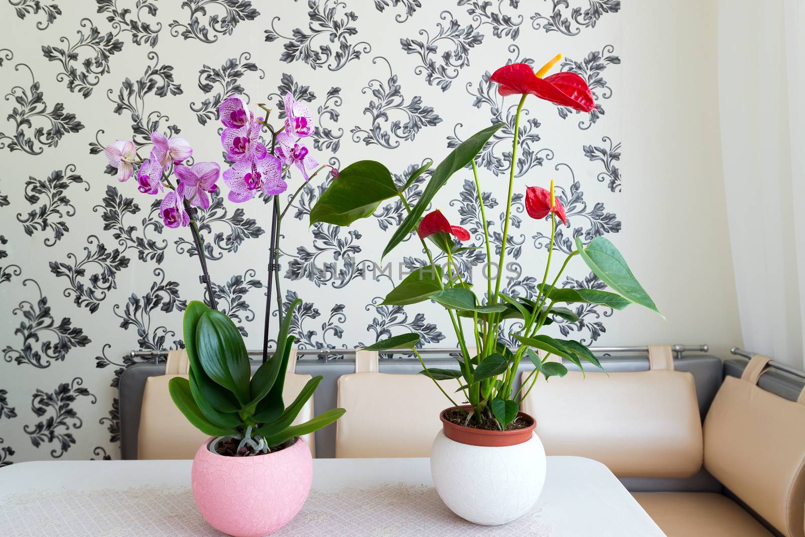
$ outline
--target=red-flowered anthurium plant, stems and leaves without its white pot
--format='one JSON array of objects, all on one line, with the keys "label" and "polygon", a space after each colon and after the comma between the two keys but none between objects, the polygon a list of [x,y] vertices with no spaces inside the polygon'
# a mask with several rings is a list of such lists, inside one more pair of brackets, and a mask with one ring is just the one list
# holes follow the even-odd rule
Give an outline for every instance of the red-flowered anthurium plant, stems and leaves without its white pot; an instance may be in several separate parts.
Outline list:
[{"label": "red-flowered anthurium plant, stems and leaves without its white pot", "polygon": [[[584,363],[601,367],[599,360],[592,355],[587,346],[572,339],[553,338],[543,334],[543,329],[563,318],[576,322],[578,317],[565,304],[601,304],[613,309],[624,309],[627,305],[638,304],[658,312],[657,306],[648,293],[638,283],[621,253],[605,237],[597,236],[588,244],[576,237],[576,250],[570,253],[551,275],[553,241],[557,219],[567,224],[567,216],[559,199],[556,199],[554,182],[550,188],[525,187],[526,212],[539,223],[549,220],[551,244],[547,249],[547,260],[537,286],[535,296],[520,297],[504,293],[501,289],[502,267],[506,266],[506,240],[511,224],[512,196],[515,189],[522,187],[514,182],[514,163],[517,162],[519,121],[523,105],[528,95],[548,100],[556,105],[589,112],[596,108],[594,97],[584,79],[572,72],[559,72],[551,76],[547,72],[561,59],[557,55],[545,66],[534,72],[527,64],[509,64],[497,69],[490,80],[499,84],[502,96],[519,96],[514,125],[508,125],[513,137],[509,175],[508,196],[506,199],[506,218],[502,229],[502,244],[498,245],[497,259],[493,258],[490,244],[489,225],[485,216],[484,200],[481,196],[481,179],[475,159],[489,141],[489,138],[504,127],[503,124],[489,125],[473,134],[456,146],[450,154],[432,171],[419,200],[411,207],[406,191],[415,179],[430,169],[432,162],[415,170],[403,187],[398,188],[390,170],[380,162],[355,162],[341,170],[339,178],[324,191],[310,213],[311,224],[327,222],[349,226],[357,219],[372,215],[379,204],[386,199],[399,198],[407,211],[407,216],[391,236],[382,256],[388,255],[398,244],[416,233],[428,264],[417,268],[386,295],[383,304],[409,305],[422,301],[436,301],[447,309],[450,322],[455,330],[461,354],[459,368],[436,369],[427,367],[417,346],[418,334],[402,334],[380,341],[367,347],[369,350],[408,349],[422,362],[423,375],[434,380],[448,400],[456,406],[461,405],[437,380],[456,379],[458,389],[456,398],[469,403],[464,412],[464,424],[481,427],[484,422],[493,420],[497,428],[517,427],[513,423],[518,416],[518,407],[534,387],[539,375],[544,379],[563,376],[568,372],[561,362],[549,360],[551,355],[568,360],[584,371]],[[460,226],[451,225],[449,219],[436,208],[431,209],[436,194],[444,187],[453,174],[471,168],[476,186],[476,202],[483,219],[483,240],[485,249],[485,285],[474,284],[462,277],[455,256],[466,248],[463,243],[470,234]],[[427,213],[427,214],[426,214]],[[611,291],[599,289],[572,289],[557,287],[559,277],[564,273],[568,262],[579,256]],[[497,275],[493,277],[492,267],[497,264]],[[483,294],[481,294],[483,293]],[[479,297],[479,294],[481,297]],[[510,322],[514,321],[514,322]],[[507,330],[507,331],[505,331]],[[510,334],[510,338],[502,336]],[[506,344],[514,341],[514,345]],[[523,359],[534,364],[534,371],[525,382],[515,390],[514,379]]]}]

